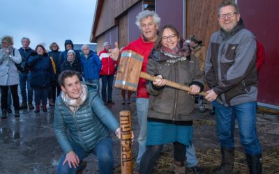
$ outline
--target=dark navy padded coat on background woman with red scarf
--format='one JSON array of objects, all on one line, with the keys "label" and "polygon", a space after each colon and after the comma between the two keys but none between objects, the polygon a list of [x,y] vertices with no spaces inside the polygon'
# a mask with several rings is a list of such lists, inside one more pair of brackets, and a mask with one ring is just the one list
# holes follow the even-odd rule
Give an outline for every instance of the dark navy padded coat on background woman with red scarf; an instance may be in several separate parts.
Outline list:
[{"label": "dark navy padded coat on background woman with red scarf", "polygon": [[31,88],[47,87],[52,81],[55,81],[52,63],[47,54],[31,56],[27,65],[31,68]]}]

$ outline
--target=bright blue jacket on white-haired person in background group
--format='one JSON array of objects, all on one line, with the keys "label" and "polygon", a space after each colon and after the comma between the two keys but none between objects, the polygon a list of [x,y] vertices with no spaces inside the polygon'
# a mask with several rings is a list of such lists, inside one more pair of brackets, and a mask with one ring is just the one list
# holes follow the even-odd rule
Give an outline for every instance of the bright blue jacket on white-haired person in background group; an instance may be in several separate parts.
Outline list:
[{"label": "bright blue jacket on white-haired person in background group", "polygon": [[94,52],[90,52],[87,58],[82,54],[80,60],[82,61],[82,76],[84,79],[99,79],[100,68],[102,68],[99,56]]}]

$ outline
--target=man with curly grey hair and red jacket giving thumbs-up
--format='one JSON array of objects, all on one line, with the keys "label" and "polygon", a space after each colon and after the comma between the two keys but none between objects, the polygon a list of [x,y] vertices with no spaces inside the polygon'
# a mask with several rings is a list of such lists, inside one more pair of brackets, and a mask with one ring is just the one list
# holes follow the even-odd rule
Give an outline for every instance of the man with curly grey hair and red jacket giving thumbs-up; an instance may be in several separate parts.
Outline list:
[{"label": "man with curly grey hair and red jacket giving thumbs-up", "polygon": [[[142,63],[142,72],[146,72],[146,66],[148,61],[148,56],[151,52],[151,49],[155,45],[157,39],[157,31],[160,26],[160,17],[150,10],[144,10],[139,13],[136,17],[135,24],[139,27],[141,31],[140,38],[130,42],[130,44],[123,49],[132,50],[144,56],[144,62]],[[113,58],[119,58],[119,48],[117,43],[114,49],[110,50],[110,54]],[[138,173],[140,168],[140,160],[142,155],[146,150],[146,125],[147,125],[147,113],[149,106],[149,94],[146,92],[146,80],[140,78],[138,87],[137,87],[137,120],[140,125],[140,135],[137,138],[139,143],[139,152],[137,155],[137,167],[135,168],[134,173]]]}]

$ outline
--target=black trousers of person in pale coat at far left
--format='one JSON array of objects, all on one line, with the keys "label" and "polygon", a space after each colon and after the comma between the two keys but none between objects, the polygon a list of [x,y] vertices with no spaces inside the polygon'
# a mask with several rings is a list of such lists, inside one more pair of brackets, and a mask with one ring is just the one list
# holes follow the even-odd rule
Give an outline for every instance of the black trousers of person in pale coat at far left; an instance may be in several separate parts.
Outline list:
[{"label": "black trousers of person in pale coat at far left", "polygon": [[18,99],[18,93],[17,93],[17,86],[18,85],[12,85],[12,86],[1,86],[1,109],[8,109],[8,89],[10,88],[10,92],[12,93],[13,97],[13,107],[15,111],[20,110],[20,100]]}]

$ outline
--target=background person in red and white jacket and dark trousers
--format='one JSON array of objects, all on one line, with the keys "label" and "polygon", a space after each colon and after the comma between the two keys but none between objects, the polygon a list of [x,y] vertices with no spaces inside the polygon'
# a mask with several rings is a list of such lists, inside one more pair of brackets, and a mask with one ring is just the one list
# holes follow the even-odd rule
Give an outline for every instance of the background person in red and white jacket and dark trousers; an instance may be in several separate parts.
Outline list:
[{"label": "background person in red and white jacket and dark trousers", "polygon": [[99,53],[100,61],[102,62],[102,69],[100,76],[102,77],[102,100],[105,104],[114,104],[112,102],[112,84],[115,72],[115,62],[109,55],[109,49],[112,48],[110,42],[104,43],[104,50]]}]

